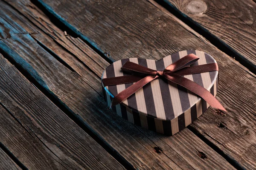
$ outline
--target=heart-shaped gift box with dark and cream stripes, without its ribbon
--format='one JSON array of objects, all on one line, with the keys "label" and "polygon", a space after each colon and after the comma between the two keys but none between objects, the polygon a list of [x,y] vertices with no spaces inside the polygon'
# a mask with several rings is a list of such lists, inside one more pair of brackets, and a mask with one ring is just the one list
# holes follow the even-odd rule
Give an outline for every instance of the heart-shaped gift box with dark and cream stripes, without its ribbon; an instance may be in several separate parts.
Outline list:
[{"label": "heart-shaped gift box with dark and cream stripes, without its ribbon", "polygon": [[[209,54],[196,50],[179,51],[158,61],[140,58],[121,59],[113,62],[105,69],[102,79],[128,75],[128,73],[121,70],[121,67],[128,61],[154,70],[164,70],[168,65],[188,54],[195,54],[199,57],[191,66],[216,63],[215,59]],[[216,95],[218,71],[184,75],[183,77],[201,85],[213,96]],[[102,81],[102,89],[108,105],[111,105],[114,96],[133,84],[105,86],[104,81]],[[122,103],[113,106],[112,109],[119,116],[135,125],[158,133],[174,135],[195,121],[208,107],[209,104],[204,99],[181,85],[158,78],[144,85],[143,88],[140,88]]]}]

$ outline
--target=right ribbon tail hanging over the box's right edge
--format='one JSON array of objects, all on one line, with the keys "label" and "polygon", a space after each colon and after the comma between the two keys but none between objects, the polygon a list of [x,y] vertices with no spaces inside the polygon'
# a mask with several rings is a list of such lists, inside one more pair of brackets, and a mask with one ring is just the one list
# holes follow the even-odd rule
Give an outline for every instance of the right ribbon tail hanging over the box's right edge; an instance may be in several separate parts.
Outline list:
[{"label": "right ribbon tail hanging over the box's right edge", "polygon": [[203,98],[209,105],[211,105],[212,108],[226,111],[226,109],[221,105],[221,103],[218,102],[218,100],[209,91],[207,91],[207,89],[191,81],[190,79],[175,74],[172,74],[172,76],[169,76],[168,74],[163,74],[163,77],[197,94],[198,96]]}]

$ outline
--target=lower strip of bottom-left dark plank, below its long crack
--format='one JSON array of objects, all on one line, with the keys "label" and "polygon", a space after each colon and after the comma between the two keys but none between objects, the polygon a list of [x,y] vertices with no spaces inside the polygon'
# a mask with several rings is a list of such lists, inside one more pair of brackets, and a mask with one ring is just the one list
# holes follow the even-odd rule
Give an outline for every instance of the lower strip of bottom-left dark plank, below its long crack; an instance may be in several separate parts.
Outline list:
[{"label": "lower strip of bottom-left dark plank, below its long crack", "polygon": [[[3,59],[3,56],[0,54],[0,68],[7,71],[6,68],[8,66],[10,66],[10,63]],[[0,91],[1,99],[5,101],[3,89]],[[20,125],[20,122],[17,119],[15,120],[11,114],[0,105],[0,143],[6,147],[6,150],[19,159],[24,167],[29,169],[66,169],[60,163],[61,159],[44,146],[31,130],[25,129]],[[4,165],[3,163],[1,162],[0,166]]]}]

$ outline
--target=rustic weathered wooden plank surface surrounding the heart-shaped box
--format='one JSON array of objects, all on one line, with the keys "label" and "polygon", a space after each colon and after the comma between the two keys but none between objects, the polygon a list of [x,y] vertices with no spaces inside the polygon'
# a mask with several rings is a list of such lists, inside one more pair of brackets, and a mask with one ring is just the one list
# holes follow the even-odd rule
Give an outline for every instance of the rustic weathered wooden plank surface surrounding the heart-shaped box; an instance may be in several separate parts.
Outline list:
[{"label": "rustic weathered wooden plank surface surrounding the heart-shaped box", "polygon": [[[0,169],[256,169],[256,1],[0,0]],[[108,110],[113,61],[197,49],[217,99],[174,136]]]}]

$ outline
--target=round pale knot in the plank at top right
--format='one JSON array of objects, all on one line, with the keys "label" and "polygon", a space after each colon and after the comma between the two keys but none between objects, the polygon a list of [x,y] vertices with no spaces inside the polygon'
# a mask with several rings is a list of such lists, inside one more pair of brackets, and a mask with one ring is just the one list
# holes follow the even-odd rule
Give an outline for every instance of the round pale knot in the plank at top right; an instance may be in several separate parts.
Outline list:
[{"label": "round pale knot in the plank at top right", "polygon": [[202,0],[191,0],[187,3],[186,10],[193,14],[204,14],[207,10],[207,4]]}]

